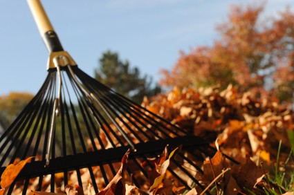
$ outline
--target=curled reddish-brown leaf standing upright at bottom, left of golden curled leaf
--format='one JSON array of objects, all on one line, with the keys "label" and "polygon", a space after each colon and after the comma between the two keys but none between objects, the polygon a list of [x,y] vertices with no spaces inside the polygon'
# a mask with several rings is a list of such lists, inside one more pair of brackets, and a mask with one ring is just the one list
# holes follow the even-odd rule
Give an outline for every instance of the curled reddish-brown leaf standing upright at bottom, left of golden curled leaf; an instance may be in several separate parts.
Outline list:
[{"label": "curled reddish-brown leaf standing upright at bottom, left of golden curled leaf", "polygon": [[120,169],[118,170],[118,173],[114,178],[111,180],[111,182],[105,187],[101,192],[99,192],[97,195],[125,195],[126,189],[125,189],[125,169],[127,169],[127,162],[129,158],[129,152],[128,150],[126,154],[122,157],[122,165],[120,166]]}]

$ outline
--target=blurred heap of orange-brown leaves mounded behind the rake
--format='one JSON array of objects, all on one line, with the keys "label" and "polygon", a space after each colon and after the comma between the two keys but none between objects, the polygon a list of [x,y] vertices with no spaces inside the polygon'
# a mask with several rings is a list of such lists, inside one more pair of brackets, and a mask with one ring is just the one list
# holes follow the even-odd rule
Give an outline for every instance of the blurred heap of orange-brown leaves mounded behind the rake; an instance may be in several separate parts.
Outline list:
[{"label": "blurred heap of orange-brown leaves mounded behind the rake", "polygon": [[145,99],[143,106],[212,145],[218,138],[222,151],[236,160],[246,156],[275,160],[279,140],[285,158],[293,147],[293,111],[273,100],[238,93],[231,85],[223,91],[174,88]]}]

